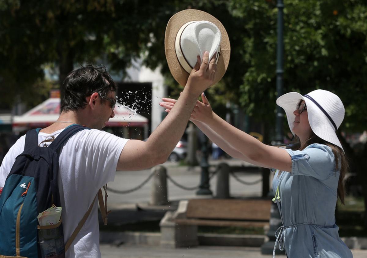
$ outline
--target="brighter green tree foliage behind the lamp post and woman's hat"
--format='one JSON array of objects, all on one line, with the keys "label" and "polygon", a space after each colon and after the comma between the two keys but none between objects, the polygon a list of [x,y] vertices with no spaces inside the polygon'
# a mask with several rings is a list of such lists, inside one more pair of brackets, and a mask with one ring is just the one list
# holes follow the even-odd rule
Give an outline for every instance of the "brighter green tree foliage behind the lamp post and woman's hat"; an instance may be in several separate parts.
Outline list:
[{"label": "brighter green tree foliage behind the lamp post and woman's hat", "polygon": [[[248,32],[243,58],[250,67],[243,74],[240,102],[248,114],[269,117],[277,97],[276,1],[231,2],[232,14],[244,19]],[[365,129],[366,1],[285,0],[284,7],[284,92],[330,90],[346,108],[342,129]]]}]

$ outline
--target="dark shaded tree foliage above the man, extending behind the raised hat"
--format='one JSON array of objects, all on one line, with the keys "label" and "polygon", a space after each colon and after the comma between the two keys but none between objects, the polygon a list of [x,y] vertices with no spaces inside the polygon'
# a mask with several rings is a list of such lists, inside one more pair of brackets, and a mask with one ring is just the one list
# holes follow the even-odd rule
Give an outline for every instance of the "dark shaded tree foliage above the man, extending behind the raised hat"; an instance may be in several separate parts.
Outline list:
[{"label": "dark shaded tree foliage above the man, extending behind the raised hat", "polygon": [[[160,66],[167,84],[176,83],[170,76],[164,54],[164,32],[170,17],[187,8],[205,10],[231,28],[236,35],[241,28],[238,18],[232,17],[229,1],[153,1],[153,0],[3,0],[0,2],[0,78],[2,96],[12,103],[15,96],[28,100],[34,82],[43,78],[43,65],[55,64],[59,82],[78,63],[107,60],[112,71],[124,71],[133,59],[144,59],[150,68]],[[238,34],[239,35],[239,34]],[[233,37],[232,44],[241,43]],[[240,55],[232,57],[241,64]],[[232,65],[234,66],[234,65]],[[217,86],[216,93],[235,97],[241,76],[229,69],[226,84]],[[21,76],[19,76],[21,75]],[[61,84],[61,83],[60,83]],[[178,90],[179,92],[179,90]],[[219,96],[221,94],[214,94]],[[222,101],[223,102],[223,101]],[[238,101],[237,101],[238,102]],[[215,101],[214,101],[215,104]]]}]

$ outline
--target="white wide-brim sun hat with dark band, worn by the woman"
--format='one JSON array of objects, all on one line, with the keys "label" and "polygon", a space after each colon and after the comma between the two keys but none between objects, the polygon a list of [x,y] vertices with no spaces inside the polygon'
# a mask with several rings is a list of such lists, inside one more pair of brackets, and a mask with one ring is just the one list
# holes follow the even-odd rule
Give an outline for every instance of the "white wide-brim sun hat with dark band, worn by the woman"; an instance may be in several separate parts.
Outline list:
[{"label": "white wide-brim sun hat with dark band, worn by the woman", "polygon": [[336,134],[336,130],[341,125],[345,114],[341,99],[327,90],[314,90],[304,96],[298,92],[290,92],[277,98],[276,104],[286,112],[288,125],[292,133],[295,119],[293,112],[300,100],[304,100],[306,103],[308,122],[315,135],[339,146],[343,150]]}]

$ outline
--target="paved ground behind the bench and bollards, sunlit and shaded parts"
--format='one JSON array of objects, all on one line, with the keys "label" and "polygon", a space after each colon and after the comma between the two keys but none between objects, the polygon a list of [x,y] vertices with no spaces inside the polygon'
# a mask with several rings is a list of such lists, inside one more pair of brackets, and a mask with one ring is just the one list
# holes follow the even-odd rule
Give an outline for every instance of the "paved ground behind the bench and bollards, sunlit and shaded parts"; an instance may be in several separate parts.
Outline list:
[{"label": "paved ground behind the bench and bollards, sunlit and shaded parts", "polygon": [[[236,159],[210,161],[210,165],[217,165],[221,162],[226,162],[230,166],[250,165]],[[188,166],[179,166],[177,163],[175,164],[171,162],[166,162],[163,166],[166,167],[167,174],[183,186],[193,187],[200,183],[200,166],[189,168]],[[215,168],[212,167],[210,171],[214,171],[214,169]],[[255,182],[262,178],[260,173],[257,172],[257,168],[252,169],[252,171],[253,172],[246,173],[237,172],[236,175],[246,182]],[[108,183],[108,188],[121,191],[133,189],[148,178],[151,172],[151,169],[142,171],[117,171],[115,181]],[[196,190],[181,189],[167,180],[167,196],[169,203],[167,205],[152,206],[150,205],[150,200],[153,194],[153,183],[154,180],[150,179],[140,189],[128,194],[117,194],[108,191],[108,209],[113,210],[113,212],[108,216],[109,223],[122,225],[138,221],[159,221],[166,211],[177,209],[179,200],[211,198],[211,196],[198,196],[196,195]],[[232,197],[259,197],[262,193],[262,182],[254,185],[244,185],[230,176],[229,185],[230,195]],[[210,189],[215,195],[217,191],[216,176],[210,180]],[[103,227],[101,227],[101,230],[103,230]]]}]

